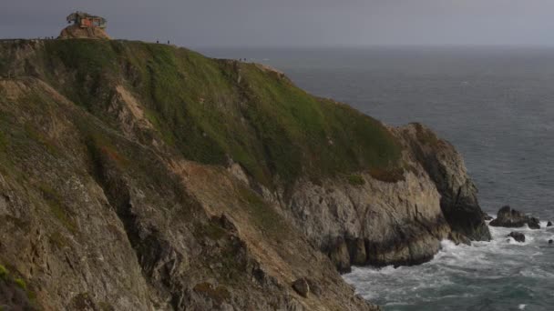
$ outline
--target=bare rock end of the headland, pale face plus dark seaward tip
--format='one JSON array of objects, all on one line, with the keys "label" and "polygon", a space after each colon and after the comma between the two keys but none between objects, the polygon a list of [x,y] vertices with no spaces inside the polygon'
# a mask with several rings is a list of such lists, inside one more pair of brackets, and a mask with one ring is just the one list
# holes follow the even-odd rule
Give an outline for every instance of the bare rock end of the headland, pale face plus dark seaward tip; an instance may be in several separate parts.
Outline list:
[{"label": "bare rock end of the headland, pale face plus dark seaward tip", "polygon": [[263,191],[341,272],[351,265],[420,264],[445,238],[465,244],[490,238],[477,189],[454,147],[422,125],[391,130],[408,151],[404,176],[395,182],[360,173],[355,185],[303,180],[288,200]]}]

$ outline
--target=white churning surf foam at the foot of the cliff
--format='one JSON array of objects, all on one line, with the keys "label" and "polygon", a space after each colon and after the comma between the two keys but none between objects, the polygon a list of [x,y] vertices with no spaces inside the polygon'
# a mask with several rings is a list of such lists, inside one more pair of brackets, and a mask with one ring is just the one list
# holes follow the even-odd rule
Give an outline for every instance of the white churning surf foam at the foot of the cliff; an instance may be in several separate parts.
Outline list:
[{"label": "white churning surf foam at the foot of the cliff", "polygon": [[[470,246],[441,241],[436,256],[420,266],[354,267],[344,279],[358,294],[384,306],[420,306],[424,301],[483,296],[487,284],[498,286],[501,280],[513,277],[547,283],[554,279],[554,273],[541,264],[554,254],[554,247],[548,246],[549,238],[554,238],[552,231],[544,227],[490,227],[490,231],[491,241],[476,241]],[[511,231],[523,232],[526,242],[509,238]]]}]

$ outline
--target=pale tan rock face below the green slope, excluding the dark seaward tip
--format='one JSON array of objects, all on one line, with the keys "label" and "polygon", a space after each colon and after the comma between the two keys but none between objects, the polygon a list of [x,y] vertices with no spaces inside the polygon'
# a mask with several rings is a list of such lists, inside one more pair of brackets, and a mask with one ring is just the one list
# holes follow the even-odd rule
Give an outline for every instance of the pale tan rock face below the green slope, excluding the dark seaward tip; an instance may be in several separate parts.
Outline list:
[{"label": "pale tan rock face below the green slope, excluding the dark seaward tip", "polygon": [[363,174],[363,185],[303,180],[283,213],[328,254],[341,272],[350,266],[415,265],[431,259],[450,229],[435,184],[420,166],[395,183]]}]

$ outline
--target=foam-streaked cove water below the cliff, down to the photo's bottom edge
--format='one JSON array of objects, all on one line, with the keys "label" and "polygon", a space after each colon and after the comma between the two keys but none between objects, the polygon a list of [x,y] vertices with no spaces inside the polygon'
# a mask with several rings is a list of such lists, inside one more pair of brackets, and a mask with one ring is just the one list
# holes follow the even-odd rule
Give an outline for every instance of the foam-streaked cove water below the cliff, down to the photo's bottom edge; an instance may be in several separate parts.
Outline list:
[{"label": "foam-streaked cove water below the cliff, down to the photo's bottom edge", "polygon": [[385,310],[552,310],[554,227],[541,226],[517,229],[524,243],[507,237],[515,229],[490,227],[491,242],[443,241],[421,266],[354,267],[344,278]]}]

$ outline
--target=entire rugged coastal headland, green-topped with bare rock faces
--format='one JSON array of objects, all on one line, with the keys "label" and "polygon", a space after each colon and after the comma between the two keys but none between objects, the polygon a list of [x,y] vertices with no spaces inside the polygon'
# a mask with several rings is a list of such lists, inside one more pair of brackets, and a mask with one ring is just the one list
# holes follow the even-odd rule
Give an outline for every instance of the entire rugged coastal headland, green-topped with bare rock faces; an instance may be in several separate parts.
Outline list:
[{"label": "entire rugged coastal headland, green-topped with bare rock faces", "polygon": [[0,43],[6,306],[373,310],[339,272],[490,238],[476,194],[423,125],[387,127],[266,66]]}]

